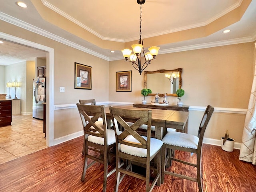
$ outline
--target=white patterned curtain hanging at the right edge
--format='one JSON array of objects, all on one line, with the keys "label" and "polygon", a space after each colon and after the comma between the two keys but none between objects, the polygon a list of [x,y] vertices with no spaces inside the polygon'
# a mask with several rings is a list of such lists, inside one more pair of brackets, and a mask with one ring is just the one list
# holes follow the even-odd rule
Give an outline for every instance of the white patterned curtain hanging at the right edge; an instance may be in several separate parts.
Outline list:
[{"label": "white patterned curtain hanging at the right edge", "polygon": [[[254,43],[256,48],[256,43]],[[256,61],[254,66],[254,78],[248,104],[248,110],[244,122],[244,132],[239,159],[256,164]]]}]

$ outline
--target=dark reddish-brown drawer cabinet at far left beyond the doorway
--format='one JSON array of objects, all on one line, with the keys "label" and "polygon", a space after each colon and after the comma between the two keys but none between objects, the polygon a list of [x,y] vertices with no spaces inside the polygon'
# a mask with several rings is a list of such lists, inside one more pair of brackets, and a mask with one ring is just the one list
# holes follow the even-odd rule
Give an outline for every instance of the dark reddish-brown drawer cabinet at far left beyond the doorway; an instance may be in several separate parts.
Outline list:
[{"label": "dark reddish-brown drawer cabinet at far left beyond the doorway", "polygon": [[12,100],[0,100],[0,127],[11,125]]}]

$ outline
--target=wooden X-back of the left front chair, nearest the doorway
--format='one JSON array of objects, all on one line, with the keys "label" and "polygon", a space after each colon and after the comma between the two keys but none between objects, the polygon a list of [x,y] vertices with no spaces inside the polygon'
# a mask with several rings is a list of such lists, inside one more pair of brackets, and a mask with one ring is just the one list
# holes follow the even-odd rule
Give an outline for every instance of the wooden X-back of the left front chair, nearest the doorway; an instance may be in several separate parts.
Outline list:
[{"label": "wooden X-back of the left front chair, nearest the doorway", "polygon": [[[85,105],[77,103],[76,106],[82,120],[84,134],[102,137],[106,140],[106,113],[104,105]],[[100,117],[102,117],[103,127],[95,123]],[[91,128],[92,126],[94,129]]]}]

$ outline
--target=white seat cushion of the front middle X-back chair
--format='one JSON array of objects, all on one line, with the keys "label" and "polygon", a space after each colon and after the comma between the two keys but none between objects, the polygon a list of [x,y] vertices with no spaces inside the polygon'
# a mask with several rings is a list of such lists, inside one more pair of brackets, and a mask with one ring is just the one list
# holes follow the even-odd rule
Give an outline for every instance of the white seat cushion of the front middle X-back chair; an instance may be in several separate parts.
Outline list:
[{"label": "white seat cushion of the front middle X-back chair", "polygon": [[[147,137],[142,136],[145,140],[147,140]],[[124,140],[130,141],[130,142],[136,142],[139,143],[138,140],[136,140],[132,135],[128,135]],[[163,142],[159,139],[150,138],[150,157],[154,155],[163,145]],[[127,146],[125,144],[120,145],[120,150],[126,154],[138,156],[138,157],[147,157],[147,150],[132,146]]]}]

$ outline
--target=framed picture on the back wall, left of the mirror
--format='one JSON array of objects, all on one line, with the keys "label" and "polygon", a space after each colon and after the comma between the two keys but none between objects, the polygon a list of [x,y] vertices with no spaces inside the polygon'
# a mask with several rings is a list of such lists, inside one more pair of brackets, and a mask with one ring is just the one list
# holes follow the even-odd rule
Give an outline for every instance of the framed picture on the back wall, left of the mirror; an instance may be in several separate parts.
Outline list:
[{"label": "framed picture on the back wall, left of the mirror", "polygon": [[116,72],[116,91],[132,91],[132,71]]}]

